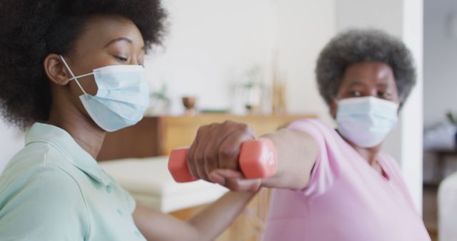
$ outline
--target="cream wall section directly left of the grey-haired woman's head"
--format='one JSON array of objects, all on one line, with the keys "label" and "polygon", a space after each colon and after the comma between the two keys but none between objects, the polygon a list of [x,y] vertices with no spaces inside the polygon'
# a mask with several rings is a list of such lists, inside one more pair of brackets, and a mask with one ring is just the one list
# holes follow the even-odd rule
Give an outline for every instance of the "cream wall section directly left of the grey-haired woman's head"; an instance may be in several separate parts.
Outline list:
[{"label": "cream wall section directly left of the grey-haired woman's head", "polygon": [[318,93],[318,53],[336,34],[334,0],[277,1],[278,49],[281,70],[286,74],[288,111],[316,113],[333,123]]}]

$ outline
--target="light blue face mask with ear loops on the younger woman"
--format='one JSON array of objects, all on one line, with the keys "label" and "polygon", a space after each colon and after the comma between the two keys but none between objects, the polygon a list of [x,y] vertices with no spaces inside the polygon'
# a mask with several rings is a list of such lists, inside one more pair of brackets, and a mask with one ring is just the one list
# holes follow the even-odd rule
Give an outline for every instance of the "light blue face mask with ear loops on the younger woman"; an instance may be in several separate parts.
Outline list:
[{"label": "light blue face mask with ear loops on the younger woman", "polygon": [[[149,85],[143,66],[115,65],[94,69],[92,73],[74,76],[63,56],[66,68],[83,94],[79,99],[92,120],[106,131],[135,125],[149,105]],[[82,88],[78,78],[94,75],[98,91],[91,96]]]}]

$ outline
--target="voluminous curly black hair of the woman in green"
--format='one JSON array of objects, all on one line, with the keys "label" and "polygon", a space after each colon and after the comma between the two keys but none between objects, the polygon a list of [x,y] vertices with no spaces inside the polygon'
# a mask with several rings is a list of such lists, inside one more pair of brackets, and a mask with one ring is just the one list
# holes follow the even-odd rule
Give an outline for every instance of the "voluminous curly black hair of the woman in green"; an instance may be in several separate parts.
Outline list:
[{"label": "voluminous curly black hair of the woman in green", "polygon": [[160,0],[1,0],[0,114],[20,128],[49,118],[51,93],[42,63],[66,54],[94,14],[136,24],[146,50],[160,44],[166,12]]}]

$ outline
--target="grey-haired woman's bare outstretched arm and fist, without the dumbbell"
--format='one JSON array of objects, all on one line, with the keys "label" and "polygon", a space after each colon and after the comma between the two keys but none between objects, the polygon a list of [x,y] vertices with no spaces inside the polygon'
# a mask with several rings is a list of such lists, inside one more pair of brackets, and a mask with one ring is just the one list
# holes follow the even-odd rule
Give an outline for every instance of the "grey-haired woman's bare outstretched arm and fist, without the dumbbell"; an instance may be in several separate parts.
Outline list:
[{"label": "grey-haired woman's bare outstretched arm and fist, without the dumbbell", "polygon": [[[318,158],[316,140],[307,133],[286,128],[263,135],[262,138],[271,139],[276,147],[278,171],[273,177],[261,180],[261,185],[296,190],[306,188]],[[251,128],[243,123],[226,121],[202,126],[187,155],[191,174],[215,183],[226,183],[214,178],[213,174],[219,173],[221,169],[240,171],[238,158],[241,144],[253,139]],[[222,176],[226,178],[225,175]],[[243,186],[227,187],[231,190],[252,190]]]}]

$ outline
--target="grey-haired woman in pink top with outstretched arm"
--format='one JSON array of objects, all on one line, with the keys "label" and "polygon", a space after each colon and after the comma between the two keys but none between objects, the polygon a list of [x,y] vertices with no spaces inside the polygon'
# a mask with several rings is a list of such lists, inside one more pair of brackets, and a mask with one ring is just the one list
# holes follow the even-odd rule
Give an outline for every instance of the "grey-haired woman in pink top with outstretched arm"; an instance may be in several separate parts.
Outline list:
[{"label": "grey-haired woman in pink top with outstretched arm", "polygon": [[[264,135],[278,151],[278,172],[254,180],[273,190],[265,240],[430,240],[396,161],[381,145],[415,84],[410,51],[377,30],[339,34],[321,51],[316,76],[336,120],[297,120]],[[247,125],[201,127],[189,150],[192,175],[227,185]],[[221,170],[224,170],[222,172]]]}]

